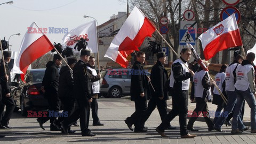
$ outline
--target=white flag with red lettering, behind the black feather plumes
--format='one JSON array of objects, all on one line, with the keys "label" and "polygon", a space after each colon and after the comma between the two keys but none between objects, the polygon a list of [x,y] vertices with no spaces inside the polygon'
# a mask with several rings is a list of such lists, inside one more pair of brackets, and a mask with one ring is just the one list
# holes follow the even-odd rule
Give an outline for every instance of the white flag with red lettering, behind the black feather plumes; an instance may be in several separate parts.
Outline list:
[{"label": "white flag with red lettering, behind the black feather plumes", "polygon": [[86,49],[91,50],[91,53],[98,53],[97,29],[95,20],[81,24],[75,29],[70,30],[69,33],[63,37],[62,45],[74,48],[77,43],[76,40],[80,40],[81,38],[87,39],[88,45]]}]

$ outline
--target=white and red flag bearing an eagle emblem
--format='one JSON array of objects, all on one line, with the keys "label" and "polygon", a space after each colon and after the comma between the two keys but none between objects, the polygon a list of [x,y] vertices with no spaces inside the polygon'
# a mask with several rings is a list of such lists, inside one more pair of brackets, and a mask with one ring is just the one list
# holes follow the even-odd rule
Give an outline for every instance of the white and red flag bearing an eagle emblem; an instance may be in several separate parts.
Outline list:
[{"label": "white and red flag bearing an eagle emblem", "polygon": [[206,61],[221,50],[243,45],[235,14],[204,32],[198,39],[202,42]]}]

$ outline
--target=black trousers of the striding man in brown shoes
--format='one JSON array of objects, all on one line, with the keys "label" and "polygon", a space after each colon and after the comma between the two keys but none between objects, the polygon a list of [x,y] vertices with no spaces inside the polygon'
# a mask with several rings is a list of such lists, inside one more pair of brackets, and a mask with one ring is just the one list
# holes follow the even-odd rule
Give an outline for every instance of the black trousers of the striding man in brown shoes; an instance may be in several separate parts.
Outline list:
[{"label": "black trousers of the striding man in brown shoes", "polygon": [[164,130],[169,126],[170,122],[174,117],[179,115],[180,123],[180,135],[187,135],[187,95],[188,90],[172,90],[172,110],[164,118],[163,122],[157,127],[157,129],[164,132]]}]

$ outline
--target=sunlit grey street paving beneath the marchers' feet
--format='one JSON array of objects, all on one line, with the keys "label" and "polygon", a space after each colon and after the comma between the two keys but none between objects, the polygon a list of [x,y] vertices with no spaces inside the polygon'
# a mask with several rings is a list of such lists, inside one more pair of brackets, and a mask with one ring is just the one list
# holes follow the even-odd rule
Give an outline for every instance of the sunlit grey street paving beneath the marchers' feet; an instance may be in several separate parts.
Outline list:
[{"label": "sunlit grey street paving beneath the marchers' feet", "polygon": [[[64,135],[59,131],[50,131],[50,122],[44,124],[45,130],[39,127],[36,118],[28,118],[21,116],[20,112],[14,113],[10,125],[13,129],[0,129],[0,134],[5,134],[5,138],[0,138],[0,143],[126,143],[126,144],[167,144],[167,143],[255,143],[256,134],[245,131],[239,135],[231,135],[231,127],[223,126],[226,133],[218,131],[208,131],[205,122],[196,121],[195,127],[198,132],[190,132],[197,134],[194,139],[180,139],[179,116],[175,117],[171,124],[177,126],[175,130],[166,130],[169,138],[162,138],[156,131],[156,127],[161,123],[161,118],[157,109],[151,114],[146,126],[149,128],[145,133],[134,133],[127,128],[124,120],[134,111],[134,102],[129,96],[122,98],[100,98],[99,118],[104,126],[92,126],[92,117],[90,117],[89,129],[97,135],[95,137],[81,137],[79,127],[71,126],[76,133]],[[170,103],[170,102],[169,102]],[[193,108],[190,108],[193,110]],[[215,109],[215,108],[214,108]],[[248,111],[248,110],[247,110]],[[79,124],[79,122],[78,122]],[[133,127],[134,128],[134,127]]]}]

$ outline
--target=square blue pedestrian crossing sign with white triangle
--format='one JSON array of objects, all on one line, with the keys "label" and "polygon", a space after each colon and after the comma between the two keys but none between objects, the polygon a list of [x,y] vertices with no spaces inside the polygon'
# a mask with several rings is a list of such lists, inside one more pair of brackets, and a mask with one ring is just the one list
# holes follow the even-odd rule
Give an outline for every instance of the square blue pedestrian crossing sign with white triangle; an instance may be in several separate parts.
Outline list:
[{"label": "square blue pedestrian crossing sign with white triangle", "polygon": [[196,41],[196,34],[195,34],[195,30],[191,29],[181,29],[179,30],[180,33],[180,45],[186,45],[187,43],[191,44],[191,45],[195,45],[195,41]]}]

